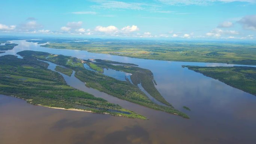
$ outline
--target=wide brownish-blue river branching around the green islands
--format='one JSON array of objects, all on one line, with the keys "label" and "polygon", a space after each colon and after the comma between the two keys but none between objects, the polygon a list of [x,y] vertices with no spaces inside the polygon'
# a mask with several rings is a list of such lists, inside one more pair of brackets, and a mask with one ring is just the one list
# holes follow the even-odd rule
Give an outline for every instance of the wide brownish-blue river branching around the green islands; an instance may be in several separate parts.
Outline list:
[{"label": "wide brownish-blue river branching around the green islands", "polygon": [[[22,99],[0,95],[0,144],[255,144],[256,96],[232,88],[181,65],[234,66],[202,62],[172,62],[52,49],[37,43],[19,44],[1,55],[35,50],[138,64],[154,74],[156,88],[175,108],[191,118],[152,110],[86,88],[72,75],[67,84],[143,114],[149,120],[58,110],[31,105]],[[19,58],[21,58],[19,56]],[[54,70],[50,63],[49,69]],[[109,75],[111,71],[109,71]],[[114,73],[117,73],[114,71]],[[74,74],[74,73],[73,73]],[[119,73],[117,73],[119,74]],[[124,77],[123,77],[124,78]],[[187,106],[191,111],[182,107]]]}]

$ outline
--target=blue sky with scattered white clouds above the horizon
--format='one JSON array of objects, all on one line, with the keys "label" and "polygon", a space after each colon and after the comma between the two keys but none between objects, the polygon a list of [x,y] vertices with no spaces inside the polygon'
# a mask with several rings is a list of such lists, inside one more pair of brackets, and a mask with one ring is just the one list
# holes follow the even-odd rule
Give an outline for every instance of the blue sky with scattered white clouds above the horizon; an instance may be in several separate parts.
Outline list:
[{"label": "blue sky with scattered white clouds above the horizon", "polygon": [[256,40],[256,0],[4,0],[0,35]]}]

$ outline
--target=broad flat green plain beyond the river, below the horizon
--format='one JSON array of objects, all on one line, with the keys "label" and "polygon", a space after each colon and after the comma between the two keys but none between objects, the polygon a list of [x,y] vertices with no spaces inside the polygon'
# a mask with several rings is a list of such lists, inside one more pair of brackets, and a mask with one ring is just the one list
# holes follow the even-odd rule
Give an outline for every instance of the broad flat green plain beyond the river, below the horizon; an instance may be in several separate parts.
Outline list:
[{"label": "broad flat green plain beyond the river, below the horizon", "polygon": [[[182,41],[147,41],[147,40],[107,40],[89,39],[86,42],[52,42],[43,47],[58,49],[87,50],[93,53],[127,56],[132,58],[164,61],[217,62],[227,64],[256,65],[255,43],[228,42],[182,42]],[[32,41],[28,41],[32,42]],[[33,42],[40,42],[33,41]]]}]

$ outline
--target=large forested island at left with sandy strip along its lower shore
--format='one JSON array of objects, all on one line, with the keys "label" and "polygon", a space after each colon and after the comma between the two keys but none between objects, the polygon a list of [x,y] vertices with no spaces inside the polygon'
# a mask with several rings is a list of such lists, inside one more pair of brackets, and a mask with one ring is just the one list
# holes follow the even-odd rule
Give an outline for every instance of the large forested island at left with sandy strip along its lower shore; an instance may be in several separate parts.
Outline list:
[{"label": "large forested island at left with sandy strip along its lower shore", "polygon": [[22,98],[34,105],[147,119],[117,104],[68,86],[48,63],[36,59],[0,56],[0,94]]}]

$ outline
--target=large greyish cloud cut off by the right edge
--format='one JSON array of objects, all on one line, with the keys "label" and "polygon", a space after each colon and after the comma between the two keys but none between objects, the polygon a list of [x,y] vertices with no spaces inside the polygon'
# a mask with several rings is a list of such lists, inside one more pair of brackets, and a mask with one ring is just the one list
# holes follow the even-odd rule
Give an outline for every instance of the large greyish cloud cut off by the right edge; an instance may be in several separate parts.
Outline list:
[{"label": "large greyish cloud cut off by the right edge", "polygon": [[244,16],[238,22],[242,24],[246,30],[256,30],[256,15]]}]

